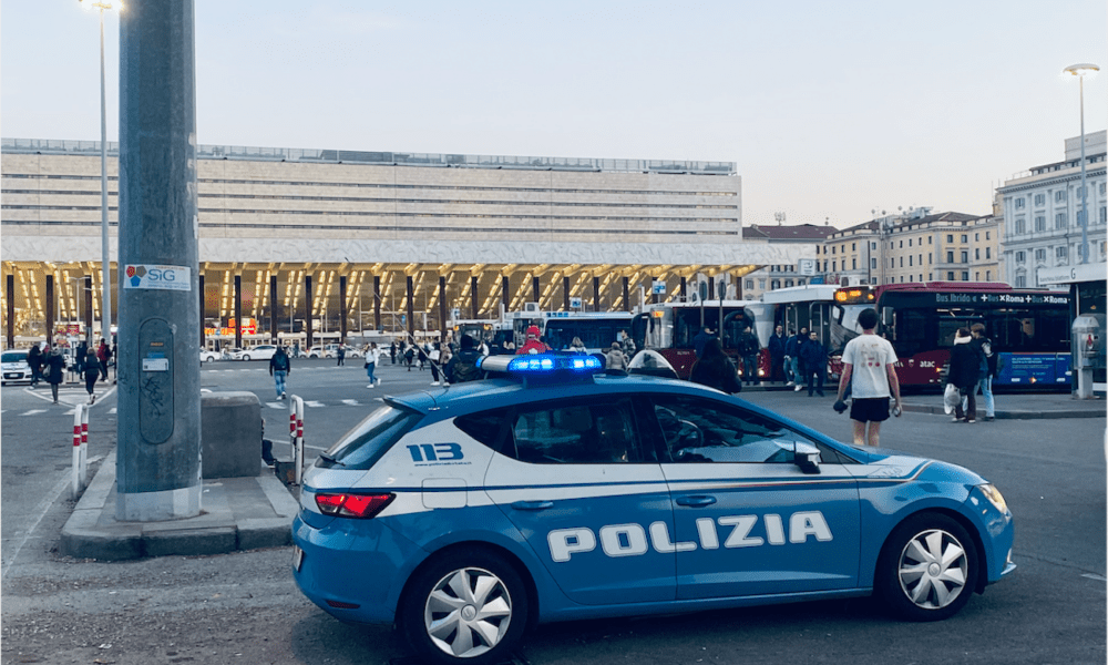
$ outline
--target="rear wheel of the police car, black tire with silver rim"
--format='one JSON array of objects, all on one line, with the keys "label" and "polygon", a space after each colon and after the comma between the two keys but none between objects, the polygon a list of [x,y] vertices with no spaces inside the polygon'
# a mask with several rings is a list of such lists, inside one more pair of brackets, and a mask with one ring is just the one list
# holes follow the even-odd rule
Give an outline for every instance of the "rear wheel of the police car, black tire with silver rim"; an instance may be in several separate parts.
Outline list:
[{"label": "rear wheel of the police car, black tire with silver rim", "polygon": [[[476,590],[483,590],[481,597]],[[463,550],[412,576],[400,623],[427,663],[488,665],[509,659],[526,631],[527,612],[527,591],[510,563],[492,552]]]}]

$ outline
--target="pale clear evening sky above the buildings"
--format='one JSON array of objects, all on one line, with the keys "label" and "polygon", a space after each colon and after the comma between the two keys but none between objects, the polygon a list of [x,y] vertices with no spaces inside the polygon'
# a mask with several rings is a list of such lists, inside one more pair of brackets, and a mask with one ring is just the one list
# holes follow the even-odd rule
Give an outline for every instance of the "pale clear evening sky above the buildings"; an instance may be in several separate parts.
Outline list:
[{"label": "pale clear evening sky above the buildings", "polygon": [[[130,0],[141,2],[142,0]],[[986,214],[1064,158],[1105,0],[196,0],[203,144],[720,160],[743,223]],[[106,20],[119,137],[119,19]],[[0,134],[100,139],[98,20],[0,2]],[[1108,124],[1108,69],[1085,85]]]}]

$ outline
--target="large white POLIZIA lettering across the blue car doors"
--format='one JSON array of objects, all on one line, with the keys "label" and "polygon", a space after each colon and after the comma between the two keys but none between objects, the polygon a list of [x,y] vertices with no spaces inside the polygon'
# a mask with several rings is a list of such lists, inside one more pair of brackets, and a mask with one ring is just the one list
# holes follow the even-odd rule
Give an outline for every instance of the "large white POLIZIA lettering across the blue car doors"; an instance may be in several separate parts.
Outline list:
[{"label": "large white POLIZIA lettering across the blue car doors", "polygon": [[[642,524],[608,524],[601,526],[599,543],[601,551],[612,557],[618,556],[640,556],[646,554],[650,546],[659,554],[671,554],[674,552],[691,552],[697,546],[704,550],[718,550],[738,548],[760,548],[765,544],[786,544],[784,520],[778,514],[766,514],[761,518],[762,528],[758,526],[758,515],[727,515],[712,520],[711,518],[700,518],[696,521],[696,541],[674,542],[669,538],[669,524],[666,522],[654,522],[649,529],[644,529]],[[724,530],[717,530],[717,523]],[[647,538],[649,534],[649,539]],[[720,535],[724,536],[720,542]],[[829,542],[833,540],[831,528],[828,526],[823,513],[818,510],[794,512],[789,518],[788,542],[792,544],[803,544],[813,536],[818,542]],[[596,549],[597,534],[592,529],[579,526],[576,529],[557,529],[546,535],[546,542],[551,549],[551,559],[563,563],[570,561],[574,554],[592,552]]]}]

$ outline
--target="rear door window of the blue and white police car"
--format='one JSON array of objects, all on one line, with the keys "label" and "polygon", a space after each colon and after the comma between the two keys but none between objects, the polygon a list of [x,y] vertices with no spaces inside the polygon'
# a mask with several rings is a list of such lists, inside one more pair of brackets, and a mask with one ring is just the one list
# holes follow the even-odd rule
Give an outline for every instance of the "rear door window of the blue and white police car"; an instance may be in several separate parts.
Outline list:
[{"label": "rear door window of the blue and white police car", "polygon": [[[547,402],[521,409],[504,454],[534,464],[612,464],[643,461],[629,399]],[[513,451],[514,448],[514,451]]]}]

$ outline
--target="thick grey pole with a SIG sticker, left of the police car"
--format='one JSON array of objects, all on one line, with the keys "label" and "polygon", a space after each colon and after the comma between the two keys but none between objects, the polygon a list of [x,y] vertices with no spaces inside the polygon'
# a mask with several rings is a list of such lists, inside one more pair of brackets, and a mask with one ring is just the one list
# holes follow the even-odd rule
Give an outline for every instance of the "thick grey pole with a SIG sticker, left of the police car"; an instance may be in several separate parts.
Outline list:
[{"label": "thick grey pole with a SIG sticker, left of the police car", "polygon": [[201,513],[193,44],[192,0],[120,14],[121,521]]}]

